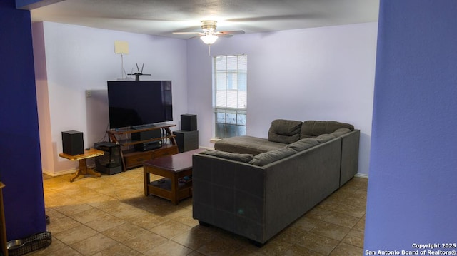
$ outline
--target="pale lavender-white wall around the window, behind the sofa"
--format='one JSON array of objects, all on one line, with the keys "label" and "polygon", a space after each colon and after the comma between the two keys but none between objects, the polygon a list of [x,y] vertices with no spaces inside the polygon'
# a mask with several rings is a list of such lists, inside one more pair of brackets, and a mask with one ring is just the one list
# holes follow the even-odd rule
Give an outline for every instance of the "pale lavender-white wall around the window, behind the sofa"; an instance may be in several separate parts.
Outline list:
[{"label": "pale lavender-white wall around the window, behind the sofa", "polygon": [[[266,138],[271,121],[334,120],[361,130],[359,173],[368,175],[377,23],[219,39],[211,55],[248,55],[248,135]],[[211,58],[189,40],[188,110],[199,144],[212,147]]]}]

